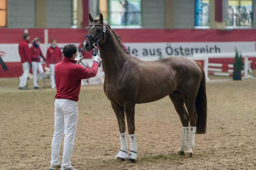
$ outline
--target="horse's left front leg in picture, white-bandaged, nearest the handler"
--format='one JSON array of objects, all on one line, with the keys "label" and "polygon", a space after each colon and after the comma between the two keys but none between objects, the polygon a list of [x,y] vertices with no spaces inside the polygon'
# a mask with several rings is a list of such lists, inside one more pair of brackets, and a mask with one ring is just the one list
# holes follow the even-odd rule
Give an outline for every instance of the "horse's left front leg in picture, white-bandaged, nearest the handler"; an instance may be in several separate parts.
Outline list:
[{"label": "horse's left front leg in picture, white-bandaged, nearest the handler", "polygon": [[117,161],[124,161],[127,156],[128,144],[127,137],[125,132],[125,117],[124,117],[124,108],[120,105],[111,102],[111,106],[116,114],[118,127],[119,127],[119,137],[121,142],[121,149],[117,153]]}]

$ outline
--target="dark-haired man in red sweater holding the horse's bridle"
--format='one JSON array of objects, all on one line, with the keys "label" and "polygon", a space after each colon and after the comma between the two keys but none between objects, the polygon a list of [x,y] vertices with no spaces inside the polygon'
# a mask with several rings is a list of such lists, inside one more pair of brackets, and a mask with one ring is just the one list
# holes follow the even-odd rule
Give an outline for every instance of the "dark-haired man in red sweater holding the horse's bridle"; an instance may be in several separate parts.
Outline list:
[{"label": "dark-haired man in red sweater holding the horse's bridle", "polygon": [[[55,170],[62,166],[62,170],[74,170],[70,164],[70,158],[76,136],[78,108],[77,100],[81,88],[81,79],[95,77],[98,72],[99,55],[94,56],[91,69],[78,64],[82,57],[77,57],[77,48],[74,44],[63,48],[63,61],[55,65],[55,82],[57,93],[54,103],[54,133],[52,137],[51,166],[49,170]],[[65,134],[62,165],[60,166],[59,152],[62,135]]]}]

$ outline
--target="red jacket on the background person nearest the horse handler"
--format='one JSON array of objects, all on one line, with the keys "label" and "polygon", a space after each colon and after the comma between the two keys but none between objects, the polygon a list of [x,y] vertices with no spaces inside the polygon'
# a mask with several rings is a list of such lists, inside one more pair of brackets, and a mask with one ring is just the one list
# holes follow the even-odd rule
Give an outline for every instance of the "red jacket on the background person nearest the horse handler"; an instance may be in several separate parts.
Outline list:
[{"label": "red jacket on the background person nearest the horse handler", "polygon": [[49,64],[56,64],[62,61],[62,52],[59,47],[52,48],[49,47],[46,52],[46,66],[49,67]]}]

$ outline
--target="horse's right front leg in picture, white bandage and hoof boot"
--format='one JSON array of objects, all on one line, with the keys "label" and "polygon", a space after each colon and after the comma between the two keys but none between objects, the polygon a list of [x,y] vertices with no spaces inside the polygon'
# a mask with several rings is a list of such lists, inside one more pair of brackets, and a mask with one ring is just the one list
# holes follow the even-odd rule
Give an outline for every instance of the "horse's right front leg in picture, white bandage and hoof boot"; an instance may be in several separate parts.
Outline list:
[{"label": "horse's right front leg in picture, white bandage and hoof boot", "polygon": [[135,103],[125,102],[124,103],[124,111],[127,119],[128,133],[130,139],[130,152],[127,155],[127,161],[134,162],[137,159],[137,139],[134,133],[135,131],[135,123],[134,123],[134,112],[135,112]]}]

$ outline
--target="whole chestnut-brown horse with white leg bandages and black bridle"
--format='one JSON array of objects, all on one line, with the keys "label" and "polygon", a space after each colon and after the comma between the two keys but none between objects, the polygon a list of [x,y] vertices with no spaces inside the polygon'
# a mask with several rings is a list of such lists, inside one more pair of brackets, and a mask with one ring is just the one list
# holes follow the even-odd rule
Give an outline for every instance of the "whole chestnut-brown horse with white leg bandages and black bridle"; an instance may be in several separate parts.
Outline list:
[{"label": "whole chestnut-brown horse with white leg bandages and black bridle", "polygon": [[[111,101],[120,132],[121,149],[116,155],[117,160],[126,159],[134,162],[137,159],[138,147],[134,133],[135,104],[160,100],[168,95],[183,126],[182,142],[177,154],[185,154],[186,158],[192,157],[195,133],[206,132],[207,101],[205,75],[201,64],[186,57],[142,61],[129,55],[118,35],[103,22],[102,14],[100,19],[93,19],[89,14],[89,19],[92,24],[87,29],[83,49],[90,51],[94,46],[100,47],[105,72],[103,88],[108,100]],[[130,139],[128,155],[124,115]]]}]

